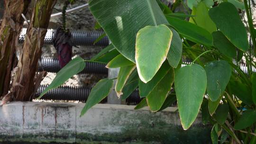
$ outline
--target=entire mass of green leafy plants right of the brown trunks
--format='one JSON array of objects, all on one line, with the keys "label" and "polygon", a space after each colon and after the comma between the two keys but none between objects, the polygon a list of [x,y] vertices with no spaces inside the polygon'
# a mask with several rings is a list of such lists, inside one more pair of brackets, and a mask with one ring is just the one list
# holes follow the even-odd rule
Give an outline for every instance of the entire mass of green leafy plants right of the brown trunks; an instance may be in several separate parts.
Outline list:
[{"label": "entire mass of green leafy plants right of the brown trunks", "polygon": [[[203,124],[213,126],[213,144],[255,144],[256,73],[252,72],[252,58],[256,55],[251,53],[255,42],[248,44],[247,32],[253,38],[256,30],[250,23],[247,0],[187,2],[192,13],[174,13],[183,4],[181,0],[175,1],[172,9],[161,0],[90,0],[97,27],[102,27],[112,42],[91,61],[120,67],[115,89],[125,100],[138,88],[143,99],[135,109],[148,106],[157,112],[177,100],[183,129],[192,126],[201,109]],[[247,28],[239,9],[249,14]],[[248,73],[240,67],[242,56]],[[188,59],[192,64],[183,66],[182,60]],[[68,65],[46,91],[84,68],[81,58]],[[107,97],[112,85],[113,80],[99,81],[82,115]]]}]

